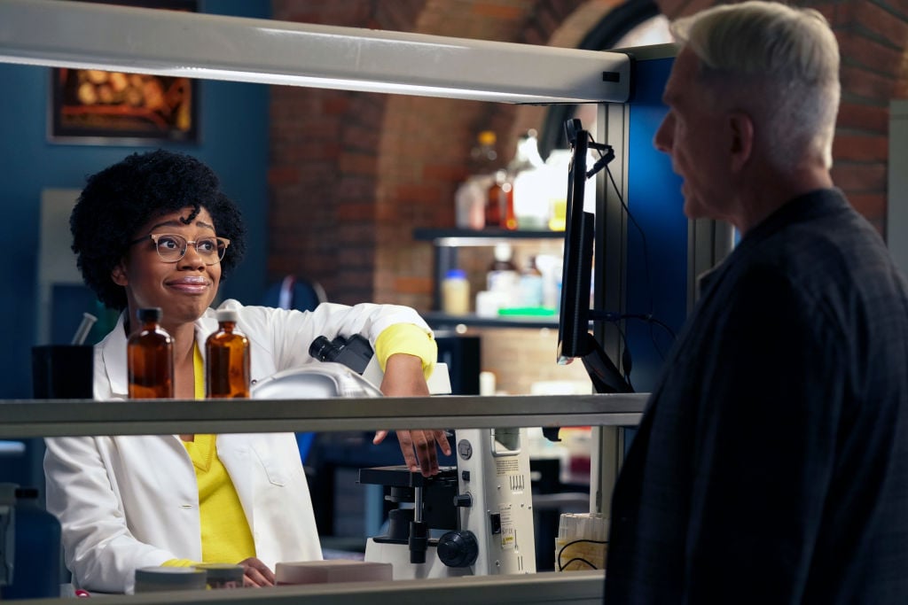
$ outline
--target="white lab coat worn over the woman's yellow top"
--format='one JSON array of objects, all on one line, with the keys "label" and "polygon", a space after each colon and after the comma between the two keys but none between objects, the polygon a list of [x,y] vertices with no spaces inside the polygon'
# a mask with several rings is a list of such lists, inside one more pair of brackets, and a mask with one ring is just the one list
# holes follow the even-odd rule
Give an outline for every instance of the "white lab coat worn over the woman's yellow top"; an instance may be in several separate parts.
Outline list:
[{"label": "white lab coat worn over the woman's yellow top", "polygon": [[[252,380],[319,363],[309,356],[315,337],[361,334],[372,345],[392,324],[429,327],[409,307],[321,304],[301,313],[270,307],[239,311],[237,327],[250,339]],[[209,309],[196,321],[196,342],[217,328]],[[95,346],[95,399],[127,397],[123,317]],[[250,402],[254,405],[254,402]],[[135,570],[169,559],[202,561],[199,493],[192,460],[178,435],[46,439],[47,509],[63,526],[66,566],[77,586],[132,592]],[[321,559],[309,487],[293,434],[221,434],[217,453],[240,497],[256,556],[272,570],[278,561]]]}]

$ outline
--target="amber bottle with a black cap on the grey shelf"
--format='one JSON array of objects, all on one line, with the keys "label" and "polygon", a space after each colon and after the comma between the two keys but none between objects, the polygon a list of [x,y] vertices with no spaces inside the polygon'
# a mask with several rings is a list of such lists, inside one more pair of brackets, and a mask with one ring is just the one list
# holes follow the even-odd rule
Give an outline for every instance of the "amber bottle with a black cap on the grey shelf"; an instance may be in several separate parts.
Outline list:
[{"label": "amber bottle with a black cap on the grey shelf", "polygon": [[161,327],[161,309],[140,308],[140,327],[126,345],[131,399],[173,397],[173,338]]}]

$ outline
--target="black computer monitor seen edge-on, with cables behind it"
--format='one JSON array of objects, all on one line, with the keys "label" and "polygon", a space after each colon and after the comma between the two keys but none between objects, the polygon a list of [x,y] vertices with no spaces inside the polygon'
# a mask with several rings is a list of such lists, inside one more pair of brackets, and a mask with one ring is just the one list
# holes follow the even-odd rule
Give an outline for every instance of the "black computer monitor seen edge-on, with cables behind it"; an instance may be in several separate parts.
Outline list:
[{"label": "black computer monitor seen edge-on, with cables behind it", "polygon": [[[568,168],[568,209],[564,239],[564,265],[561,277],[561,314],[558,318],[558,363],[579,358],[587,369],[597,393],[631,393],[617,366],[597,339],[589,333],[589,294],[593,268],[593,240],[596,218],[584,210],[587,179],[614,157],[607,145],[592,143],[589,132],[579,120],[565,124],[571,161]],[[592,171],[587,171],[590,147],[605,151]]]}]

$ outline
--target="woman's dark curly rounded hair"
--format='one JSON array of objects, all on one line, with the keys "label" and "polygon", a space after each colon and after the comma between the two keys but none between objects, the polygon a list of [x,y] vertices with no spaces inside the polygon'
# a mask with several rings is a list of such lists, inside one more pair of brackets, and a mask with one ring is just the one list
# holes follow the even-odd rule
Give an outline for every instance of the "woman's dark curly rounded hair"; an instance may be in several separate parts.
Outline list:
[{"label": "woman's dark curly rounded hair", "polygon": [[221,261],[221,278],[227,278],[246,251],[246,228],[240,210],[202,161],[173,151],[133,153],[88,177],[69,227],[85,285],[106,307],[126,307],[125,289],[114,283],[111,271],[126,255],[136,230],[187,207],[193,209],[190,220],[202,208],[208,210],[217,234],[231,240]]}]

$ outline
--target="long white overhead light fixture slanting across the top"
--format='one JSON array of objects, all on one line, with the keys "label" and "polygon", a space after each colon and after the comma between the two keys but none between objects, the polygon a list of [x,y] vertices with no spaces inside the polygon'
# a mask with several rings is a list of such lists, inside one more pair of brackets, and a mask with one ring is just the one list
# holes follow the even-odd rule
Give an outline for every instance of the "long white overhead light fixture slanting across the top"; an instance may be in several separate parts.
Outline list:
[{"label": "long white overhead light fixture slanting across the top", "polygon": [[0,2],[0,62],[514,103],[630,91],[622,53],[61,0]]}]

